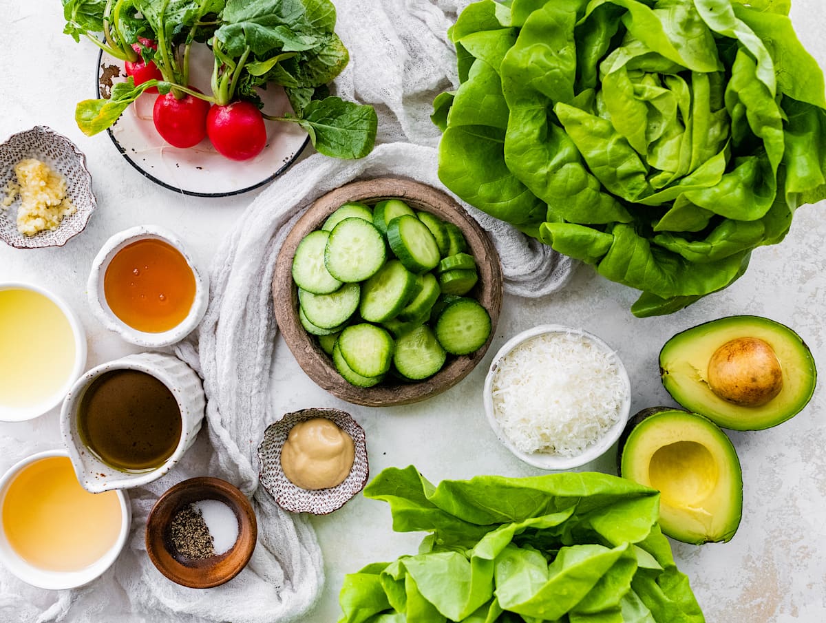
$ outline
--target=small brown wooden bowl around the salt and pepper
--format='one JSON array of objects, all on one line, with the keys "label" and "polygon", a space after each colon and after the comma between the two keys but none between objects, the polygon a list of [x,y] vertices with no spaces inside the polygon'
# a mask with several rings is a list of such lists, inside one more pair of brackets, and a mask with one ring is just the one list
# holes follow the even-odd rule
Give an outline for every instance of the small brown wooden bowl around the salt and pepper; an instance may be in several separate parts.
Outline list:
[{"label": "small brown wooden bowl around the salt and pepper", "polygon": [[[224,554],[207,559],[188,559],[177,554],[169,541],[169,524],[185,506],[202,500],[218,500],[235,513],[238,539]],[[258,540],[258,525],[249,500],[237,487],[221,478],[189,478],[171,487],[146,519],[146,553],[160,573],[190,588],[211,588],[229,582],[249,563]]]}]

